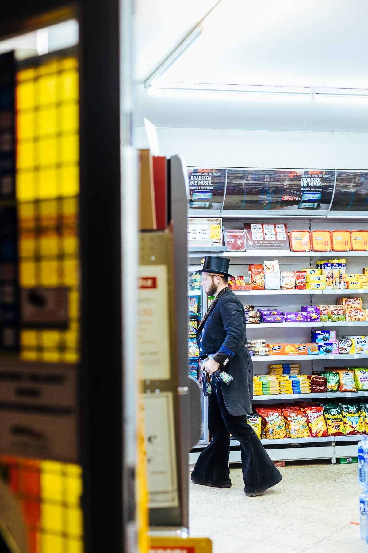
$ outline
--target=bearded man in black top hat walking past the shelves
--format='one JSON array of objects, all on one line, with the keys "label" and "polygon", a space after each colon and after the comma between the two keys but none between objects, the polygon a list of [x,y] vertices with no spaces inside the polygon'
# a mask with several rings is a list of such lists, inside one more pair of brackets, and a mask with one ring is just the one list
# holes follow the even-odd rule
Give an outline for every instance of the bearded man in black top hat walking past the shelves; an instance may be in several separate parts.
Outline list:
[{"label": "bearded man in black top hat walking past the shelves", "polygon": [[[208,374],[224,370],[233,377],[225,384],[211,377],[208,425],[210,445],[201,452],[191,479],[195,484],[230,488],[230,435],[239,441],[244,492],[260,495],[282,479],[257,434],[247,423],[252,412],[253,364],[247,349],[246,314],[228,286],[230,259],[206,256],[202,285],[214,301],[197,331],[201,368]],[[217,373],[216,373],[217,374]]]}]

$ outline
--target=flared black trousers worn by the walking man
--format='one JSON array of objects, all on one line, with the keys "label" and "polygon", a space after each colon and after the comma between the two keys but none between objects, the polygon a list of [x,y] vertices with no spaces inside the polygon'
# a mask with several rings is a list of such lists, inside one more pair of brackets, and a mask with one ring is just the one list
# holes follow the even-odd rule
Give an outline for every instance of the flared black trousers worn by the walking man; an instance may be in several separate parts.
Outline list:
[{"label": "flared black trousers worn by the walking man", "polygon": [[[230,386],[235,385],[232,382]],[[226,409],[221,386],[212,378],[212,394],[209,395],[208,425],[211,443],[203,450],[195,463],[191,479],[206,486],[230,484],[230,434],[239,441],[242,455],[244,492],[257,493],[275,486],[282,479],[265,451],[257,434],[247,423],[246,415],[233,416]]]}]

